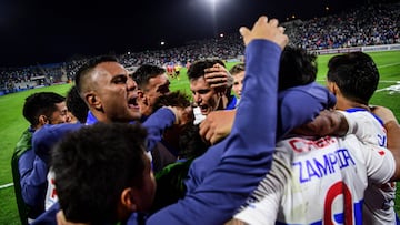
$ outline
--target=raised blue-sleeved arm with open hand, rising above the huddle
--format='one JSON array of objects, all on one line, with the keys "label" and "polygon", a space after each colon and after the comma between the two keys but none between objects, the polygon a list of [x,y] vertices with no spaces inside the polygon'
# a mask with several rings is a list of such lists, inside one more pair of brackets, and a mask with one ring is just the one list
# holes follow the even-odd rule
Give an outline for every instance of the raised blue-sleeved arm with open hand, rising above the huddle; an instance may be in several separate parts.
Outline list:
[{"label": "raised blue-sleeved arm with open hand, rising above the huddle", "polygon": [[[198,188],[153,214],[146,224],[222,224],[268,172],[276,144],[279,57],[288,37],[282,28],[278,28],[277,20],[268,21],[266,17],[261,17],[251,31],[241,28],[241,33],[247,44],[250,88],[243,92],[232,135],[227,137],[229,144],[222,145],[226,152],[218,158],[220,164],[212,168]],[[270,104],[259,104],[259,98]],[[271,120],[264,120],[264,116]],[[254,129],[259,125],[264,127],[263,132]],[[121,195],[117,196],[120,200]],[[103,197],[107,196],[96,196],[98,201]],[[70,218],[67,216],[67,219]]]}]

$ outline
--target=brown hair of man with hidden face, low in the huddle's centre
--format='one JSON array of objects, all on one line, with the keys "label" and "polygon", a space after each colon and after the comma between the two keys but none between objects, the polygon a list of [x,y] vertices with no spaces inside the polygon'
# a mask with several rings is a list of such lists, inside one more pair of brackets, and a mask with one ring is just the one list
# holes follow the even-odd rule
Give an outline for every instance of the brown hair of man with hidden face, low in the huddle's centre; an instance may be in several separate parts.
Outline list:
[{"label": "brown hair of man with hidden face, low in the huddle's centre", "polygon": [[170,92],[168,94],[159,96],[153,106],[152,110],[156,112],[158,109],[162,106],[179,106],[179,108],[188,108],[190,106],[190,96],[181,91],[174,91]]}]

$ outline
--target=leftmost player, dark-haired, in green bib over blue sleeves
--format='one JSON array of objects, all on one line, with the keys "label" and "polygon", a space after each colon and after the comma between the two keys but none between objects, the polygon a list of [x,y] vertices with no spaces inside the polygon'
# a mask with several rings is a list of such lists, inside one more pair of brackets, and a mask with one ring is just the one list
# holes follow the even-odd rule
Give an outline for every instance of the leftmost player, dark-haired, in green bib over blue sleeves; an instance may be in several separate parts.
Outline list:
[{"label": "leftmost player, dark-haired, in green bib over blue sleeves", "polygon": [[[12,177],[21,223],[34,219],[44,211],[46,174],[39,176],[43,167],[32,150],[32,134],[44,124],[69,122],[66,98],[53,92],[39,92],[26,99],[22,110],[30,126],[17,143],[11,158]],[[43,181],[43,182],[40,182]]]}]

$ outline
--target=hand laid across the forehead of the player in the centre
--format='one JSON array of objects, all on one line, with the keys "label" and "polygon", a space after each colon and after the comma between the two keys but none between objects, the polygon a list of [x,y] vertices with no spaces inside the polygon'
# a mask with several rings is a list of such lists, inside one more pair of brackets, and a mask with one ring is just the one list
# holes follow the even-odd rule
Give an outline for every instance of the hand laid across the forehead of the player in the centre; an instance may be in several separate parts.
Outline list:
[{"label": "hand laid across the forehead of the player in the centre", "polygon": [[224,67],[218,63],[212,68],[207,68],[204,72],[206,82],[211,88],[231,88],[233,85],[233,76]]}]

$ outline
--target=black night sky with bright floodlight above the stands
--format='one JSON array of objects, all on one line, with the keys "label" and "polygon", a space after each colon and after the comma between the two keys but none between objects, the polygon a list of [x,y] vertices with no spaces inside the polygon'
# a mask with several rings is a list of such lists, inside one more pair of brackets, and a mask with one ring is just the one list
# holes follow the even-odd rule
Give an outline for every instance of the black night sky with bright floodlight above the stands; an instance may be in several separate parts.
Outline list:
[{"label": "black night sky with bright floodlight above the stands", "polygon": [[[107,3],[104,3],[107,2]],[[238,32],[266,14],[286,21],[339,12],[361,0],[0,0],[0,68],[172,48]],[[326,7],[329,7],[329,11]]]}]

